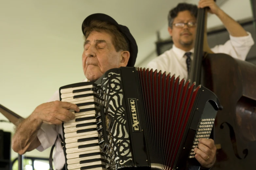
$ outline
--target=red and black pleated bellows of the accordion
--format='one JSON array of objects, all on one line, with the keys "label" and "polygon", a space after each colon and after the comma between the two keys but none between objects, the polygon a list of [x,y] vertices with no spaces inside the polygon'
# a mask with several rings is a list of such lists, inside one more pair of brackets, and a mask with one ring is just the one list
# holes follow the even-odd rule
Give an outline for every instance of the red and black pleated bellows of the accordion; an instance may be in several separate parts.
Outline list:
[{"label": "red and black pleated bellows of the accordion", "polygon": [[[152,168],[172,169],[182,149],[187,122],[201,86],[170,73],[138,68]],[[162,169],[162,168],[161,168]]]}]

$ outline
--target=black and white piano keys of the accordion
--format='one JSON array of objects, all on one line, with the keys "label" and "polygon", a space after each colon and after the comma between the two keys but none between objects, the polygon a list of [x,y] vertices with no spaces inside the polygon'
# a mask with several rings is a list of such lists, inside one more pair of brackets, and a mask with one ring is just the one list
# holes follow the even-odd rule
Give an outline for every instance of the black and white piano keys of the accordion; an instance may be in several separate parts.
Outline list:
[{"label": "black and white piano keys of the accordion", "polygon": [[64,122],[64,138],[68,170],[102,170],[104,163],[98,144],[95,113],[98,106],[93,85],[61,89],[61,101],[76,104],[75,119]]}]

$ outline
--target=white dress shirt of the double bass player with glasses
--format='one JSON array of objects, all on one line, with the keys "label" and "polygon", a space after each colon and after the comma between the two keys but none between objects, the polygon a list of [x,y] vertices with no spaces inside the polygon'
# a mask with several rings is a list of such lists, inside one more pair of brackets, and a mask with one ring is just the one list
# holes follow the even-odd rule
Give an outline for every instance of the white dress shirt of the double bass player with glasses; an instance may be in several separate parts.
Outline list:
[{"label": "white dress shirt of the double bass player with glasses", "polygon": [[[246,56],[254,44],[253,38],[249,32],[247,36],[234,37],[230,35],[230,40],[228,40],[224,45],[217,45],[211,50],[214,53],[225,53],[233,58],[245,60]],[[184,51],[177,48],[175,45],[170,50],[165,51],[163,54],[153,59],[147,64],[147,68],[152,68],[153,70],[162,70],[171,75],[175,74],[175,77],[180,76],[180,79],[185,80],[188,77],[186,52],[192,52],[191,59],[193,60],[194,49],[190,51]]]}]

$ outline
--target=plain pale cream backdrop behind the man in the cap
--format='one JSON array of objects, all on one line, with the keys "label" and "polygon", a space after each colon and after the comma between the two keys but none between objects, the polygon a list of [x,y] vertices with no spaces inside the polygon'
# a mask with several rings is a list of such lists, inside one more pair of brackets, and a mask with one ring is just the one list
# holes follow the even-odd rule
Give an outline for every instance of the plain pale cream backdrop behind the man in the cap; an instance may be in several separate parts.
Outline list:
[{"label": "plain pale cream backdrop behind the man in the cap", "polygon": [[[36,103],[45,101],[60,85],[83,79],[81,23],[86,16],[99,12],[112,16],[128,26],[139,46],[164,26],[169,9],[177,3],[178,0],[4,1],[0,6],[0,87],[4,91],[0,103],[27,116]],[[12,91],[3,90],[7,88]],[[33,96],[31,107],[18,107],[20,102],[15,97],[22,98],[18,93],[30,101],[31,92],[38,91],[46,95]]]}]

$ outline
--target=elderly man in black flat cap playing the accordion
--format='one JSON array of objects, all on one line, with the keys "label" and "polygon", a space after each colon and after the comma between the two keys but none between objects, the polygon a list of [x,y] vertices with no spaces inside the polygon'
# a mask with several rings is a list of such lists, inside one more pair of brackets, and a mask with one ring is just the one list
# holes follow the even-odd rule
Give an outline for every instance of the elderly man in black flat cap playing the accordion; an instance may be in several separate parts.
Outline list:
[{"label": "elderly man in black flat cap playing the accordion", "polygon": [[[138,52],[137,44],[126,26],[118,24],[108,15],[93,14],[83,21],[82,31],[85,38],[82,53],[85,75],[83,82],[97,80],[112,68],[134,66]],[[59,91],[56,91],[47,103],[37,106],[32,114],[17,126],[12,138],[12,149],[24,154],[33,149],[43,151],[56,145],[53,160],[55,169],[65,169],[61,146],[62,122],[75,118],[70,109],[79,111],[77,105],[61,102]],[[210,168],[215,162],[214,141],[201,138],[195,153],[201,168]]]}]

